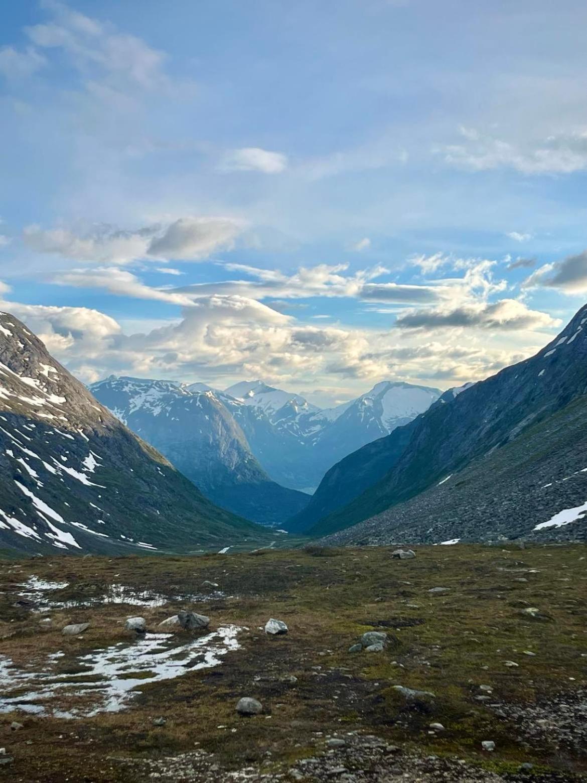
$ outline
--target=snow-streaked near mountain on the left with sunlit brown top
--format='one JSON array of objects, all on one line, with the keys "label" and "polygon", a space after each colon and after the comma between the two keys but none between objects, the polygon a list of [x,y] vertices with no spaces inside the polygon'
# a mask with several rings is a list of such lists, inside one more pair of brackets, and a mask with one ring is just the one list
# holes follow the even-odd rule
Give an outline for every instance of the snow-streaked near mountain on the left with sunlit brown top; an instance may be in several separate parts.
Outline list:
[{"label": "snow-streaked near mountain on the left with sunlit brown top", "polygon": [[0,313],[0,547],[185,552],[264,537],[215,507]]}]

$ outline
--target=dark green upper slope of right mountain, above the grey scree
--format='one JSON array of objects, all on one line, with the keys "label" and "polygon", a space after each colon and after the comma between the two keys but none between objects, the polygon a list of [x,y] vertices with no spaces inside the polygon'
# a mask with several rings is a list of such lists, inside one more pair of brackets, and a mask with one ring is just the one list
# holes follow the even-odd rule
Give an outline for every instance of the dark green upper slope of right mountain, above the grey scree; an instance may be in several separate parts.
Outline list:
[{"label": "dark green upper slope of right mountain, above the grey scree", "polygon": [[405,502],[584,395],[585,323],[587,307],[531,359],[466,388],[452,402],[432,406],[416,420],[391,471],[310,532],[334,532]]}]

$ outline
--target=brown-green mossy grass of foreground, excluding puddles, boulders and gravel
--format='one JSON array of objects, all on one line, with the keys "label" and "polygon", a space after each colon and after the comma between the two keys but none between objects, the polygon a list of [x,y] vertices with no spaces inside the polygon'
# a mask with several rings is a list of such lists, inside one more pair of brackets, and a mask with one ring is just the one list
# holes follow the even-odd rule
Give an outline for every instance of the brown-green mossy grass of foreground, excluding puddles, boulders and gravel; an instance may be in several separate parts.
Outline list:
[{"label": "brown-green mossy grass of foreground, excluding puddles, boulders and gravel", "polygon": [[[236,623],[249,630],[239,637],[243,648],[226,655],[221,666],[188,670],[175,680],[146,680],[122,713],[80,720],[0,716],[0,745],[15,756],[11,767],[0,768],[0,780],[139,781],[144,770],[129,770],[117,759],[195,748],[214,753],[227,768],[262,762],[279,770],[315,755],[322,742],[317,733],[341,731],[377,734],[492,770],[526,761],[537,769],[560,769],[554,746],[528,744],[520,727],[488,704],[534,704],[560,693],[571,698],[587,685],[585,547],[419,547],[416,559],[407,561],[392,559],[392,549],[4,561],[0,655],[27,666],[63,651],[53,670],[70,675],[72,687],[83,679],[79,656],[128,640],[128,615],[144,616],[152,629],[185,605],[174,601],[176,594],[205,592],[205,579],[218,583],[225,597],[191,608],[210,616],[212,628]],[[83,604],[117,583],[167,596],[169,604],[52,610],[52,626],[41,630],[31,608],[14,605],[18,584],[32,575],[69,583],[52,594],[56,600]],[[449,590],[430,594],[436,586]],[[528,607],[549,619],[531,618],[524,614]],[[290,632],[267,637],[262,626],[269,617],[283,619]],[[81,638],[63,637],[60,629],[70,622],[90,622],[90,628]],[[385,630],[391,643],[383,653],[349,654],[366,630]],[[186,638],[181,634],[180,643]],[[129,669],[128,677],[136,673]],[[395,684],[431,691],[435,698],[406,702]],[[486,693],[480,685],[491,687],[491,702],[475,698]],[[235,705],[243,695],[258,698],[264,714],[239,718]],[[73,691],[60,706],[78,701]],[[159,716],[166,723],[155,727]],[[9,731],[12,720],[24,728]],[[429,734],[431,722],[445,731]],[[481,740],[488,738],[496,743],[490,757],[481,752]],[[567,754],[564,764],[574,773],[587,772],[578,752]]]}]

